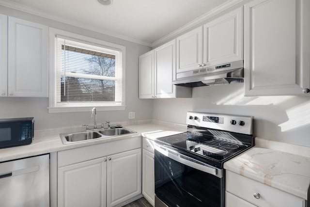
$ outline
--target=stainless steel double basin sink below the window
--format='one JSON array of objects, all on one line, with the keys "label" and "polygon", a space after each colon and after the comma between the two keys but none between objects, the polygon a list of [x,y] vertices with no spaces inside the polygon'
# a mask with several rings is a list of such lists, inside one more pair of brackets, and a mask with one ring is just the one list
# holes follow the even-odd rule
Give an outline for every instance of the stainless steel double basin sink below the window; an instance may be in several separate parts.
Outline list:
[{"label": "stainless steel double basin sink below the window", "polygon": [[108,129],[98,129],[93,131],[84,131],[71,134],[60,134],[62,143],[76,143],[90,141],[93,139],[102,139],[114,136],[121,136],[125,134],[137,133],[127,128],[108,128]]}]

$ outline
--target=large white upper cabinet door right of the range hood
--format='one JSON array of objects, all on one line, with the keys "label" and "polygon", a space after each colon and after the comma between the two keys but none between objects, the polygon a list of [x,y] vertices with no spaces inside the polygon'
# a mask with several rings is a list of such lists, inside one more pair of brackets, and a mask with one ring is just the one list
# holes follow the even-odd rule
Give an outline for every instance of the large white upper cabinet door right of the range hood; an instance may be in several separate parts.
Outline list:
[{"label": "large white upper cabinet door right of the range hood", "polygon": [[298,95],[310,84],[309,0],[245,5],[245,95]]}]

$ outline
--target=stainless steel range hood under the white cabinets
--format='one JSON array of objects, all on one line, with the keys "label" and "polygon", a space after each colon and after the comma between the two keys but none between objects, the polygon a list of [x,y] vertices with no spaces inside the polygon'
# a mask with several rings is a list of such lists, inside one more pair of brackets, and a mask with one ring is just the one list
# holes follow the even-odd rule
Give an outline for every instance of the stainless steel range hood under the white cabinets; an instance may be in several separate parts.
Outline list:
[{"label": "stainless steel range hood under the white cabinets", "polygon": [[176,74],[174,85],[199,87],[243,82],[243,60]]}]

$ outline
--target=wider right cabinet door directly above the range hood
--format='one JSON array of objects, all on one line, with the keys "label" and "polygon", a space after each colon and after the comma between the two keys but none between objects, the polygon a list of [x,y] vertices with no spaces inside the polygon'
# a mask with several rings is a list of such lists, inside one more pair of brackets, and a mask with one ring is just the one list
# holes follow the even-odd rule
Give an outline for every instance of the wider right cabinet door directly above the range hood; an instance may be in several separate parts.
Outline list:
[{"label": "wider right cabinet door directly above the range hood", "polygon": [[203,25],[203,64],[238,60],[243,60],[243,7]]}]

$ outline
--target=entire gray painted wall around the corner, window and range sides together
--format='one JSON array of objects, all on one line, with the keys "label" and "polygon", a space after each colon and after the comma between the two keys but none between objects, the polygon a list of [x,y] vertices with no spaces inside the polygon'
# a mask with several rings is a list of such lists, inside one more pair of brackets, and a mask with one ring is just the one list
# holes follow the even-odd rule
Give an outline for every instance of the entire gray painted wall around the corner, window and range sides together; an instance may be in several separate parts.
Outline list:
[{"label": "entire gray painted wall around the corner, window and range sides together", "polygon": [[[286,143],[310,146],[310,96],[245,97],[243,84],[206,86],[193,89],[192,98],[139,99],[139,55],[149,47],[33,16],[0,6],[0,13],[46,24],[50,27],[126,46],[126,110],[98,111],[98,122],[154,118],[186,124],[187,111],[208,111],[254,116],[254,136]],[[48,113],[48,98],[0,97],[0,118],[35,117],[35,128],[53,128],[91,124],[91,111]]]}]

